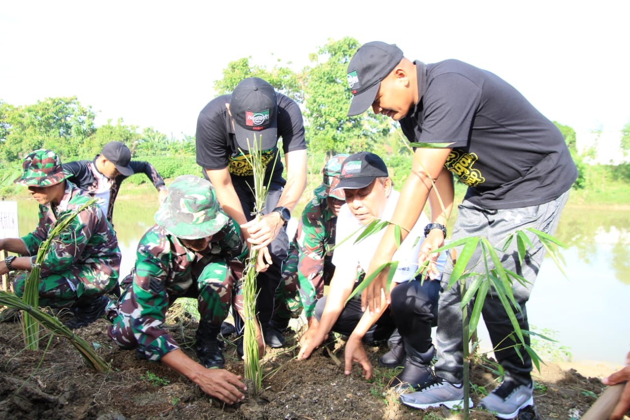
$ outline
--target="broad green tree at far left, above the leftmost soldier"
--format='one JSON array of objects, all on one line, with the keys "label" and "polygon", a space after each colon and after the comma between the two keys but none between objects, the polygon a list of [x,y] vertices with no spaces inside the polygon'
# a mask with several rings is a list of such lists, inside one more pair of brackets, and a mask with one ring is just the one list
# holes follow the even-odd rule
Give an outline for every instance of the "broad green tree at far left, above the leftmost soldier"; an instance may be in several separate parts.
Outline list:
[{"label": "broad green tree at far left, above the leftmost soldier", "polygon": [[60,156],[74,155],[95,132],[95,117],[91,107],[83,107],[76,96],[18,107],[0,103],[0,159],[20,160],[40,148]]}]

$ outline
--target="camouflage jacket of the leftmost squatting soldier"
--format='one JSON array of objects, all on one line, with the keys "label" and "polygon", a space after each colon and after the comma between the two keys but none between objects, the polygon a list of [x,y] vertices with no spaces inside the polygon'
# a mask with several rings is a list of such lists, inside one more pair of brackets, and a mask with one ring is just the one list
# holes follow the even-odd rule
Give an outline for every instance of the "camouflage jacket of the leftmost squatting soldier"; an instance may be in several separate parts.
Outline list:
[{"label": "camouflage jacket of the leftmost squatting soldier", "polygon": [[[76,211],[91,197],[72,182],[66,182],[66,192],[59,206],[39,206],[39,224],[22,240],[31,255],[31,265],[37,260],[37,251],[45,241],[55,222],[63,214]],[[77,214],[74,221],[50,243],[49,251],[42,262],[42,277],[51,273],[67,271],[72,265],[99,264],[102,270],[118,278],[112,265],[120,264],[120,249],[112,225],[105,218],[98,204],[93,204]],[[110,264],[110,263],[114,264]],[[116,264],[117,263],[117,264]]]}]

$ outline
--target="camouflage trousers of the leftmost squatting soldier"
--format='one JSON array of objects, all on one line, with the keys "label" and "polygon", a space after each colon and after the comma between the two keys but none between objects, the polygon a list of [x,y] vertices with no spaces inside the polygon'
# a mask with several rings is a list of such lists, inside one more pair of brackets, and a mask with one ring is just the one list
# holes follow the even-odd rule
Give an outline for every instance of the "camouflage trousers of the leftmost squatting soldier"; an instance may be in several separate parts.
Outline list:
[{"label": "camouflage trousers of the leftmost squatting soldier", "polygon": [[[110,267],[113,267],[110,264]],[[118,276],[104,274],[103,264],[72,265],[68,271],[49,274],[39,282],[39,305],[60,308],[71,306],[81,296],[100,296],[112,291]],[[18,297],[24,296],[28,272],[18,274],[13,280],[13,290]]]}]

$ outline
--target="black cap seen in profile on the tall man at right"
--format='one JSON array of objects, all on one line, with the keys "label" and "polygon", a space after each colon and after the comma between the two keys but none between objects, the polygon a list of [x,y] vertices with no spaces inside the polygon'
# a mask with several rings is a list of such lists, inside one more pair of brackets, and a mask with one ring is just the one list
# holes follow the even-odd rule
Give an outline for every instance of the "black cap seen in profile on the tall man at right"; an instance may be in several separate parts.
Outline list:
[{"label": "black cap seen in profile on the tall man at right", "polygon": [[348,64],[348,86],[352,103],[348,117],[363,114],[372,105],[382,79],[403,59],[403,50],[396,44],[368,42],[359,47]]}]

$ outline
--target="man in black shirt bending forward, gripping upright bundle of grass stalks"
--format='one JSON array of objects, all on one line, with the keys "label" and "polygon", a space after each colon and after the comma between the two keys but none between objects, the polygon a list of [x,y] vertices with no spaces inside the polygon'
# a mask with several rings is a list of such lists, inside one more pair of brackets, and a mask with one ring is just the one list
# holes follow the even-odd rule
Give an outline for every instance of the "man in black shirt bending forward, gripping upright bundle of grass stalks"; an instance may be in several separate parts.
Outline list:
[{"label": "man in black shirt bending forward, gripping upright bundle of grass stalks", "polygon": [[[280,137],[287,180],[282,178],[277,146]],[[252,221],[253,170],[246,160],[254,141],[265,165],[264,184],[269,185],[264,216],[257,222]],[[297,103],[277,93],[263,79],[244,79],[231,95],[218,96],[201,110],[197,119],[197,163],[214,185],[223,210],[243,227],[248,244],[260,249],[258,266],[266,271],[257,278],[258,317],[266,343],[280,347],[284,344],[281,330],[288,319],[272,320],[273,294],[280,283],[282,261],[287,257],[286,224],[306,187],[304,122]]]}]

